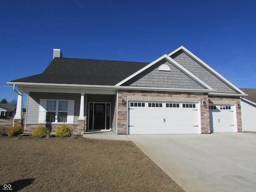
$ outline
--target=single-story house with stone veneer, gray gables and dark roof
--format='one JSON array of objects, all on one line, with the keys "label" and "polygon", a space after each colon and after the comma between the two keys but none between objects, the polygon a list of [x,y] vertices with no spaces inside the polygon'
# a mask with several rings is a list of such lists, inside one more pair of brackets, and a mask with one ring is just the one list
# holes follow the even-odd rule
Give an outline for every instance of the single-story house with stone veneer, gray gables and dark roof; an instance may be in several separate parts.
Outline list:
[{"label": "single-story house with stone veneer, gray gables and dark roof", "polygon": [[[246,94],[180,46],[151,63],[62,58],[42,74],[8,82],[18,94],[14,122],[27,97],[27,131],[65,123],[77,134],[201,134],[241,132]],[[18,87],[18,91],[15,89]]]}]

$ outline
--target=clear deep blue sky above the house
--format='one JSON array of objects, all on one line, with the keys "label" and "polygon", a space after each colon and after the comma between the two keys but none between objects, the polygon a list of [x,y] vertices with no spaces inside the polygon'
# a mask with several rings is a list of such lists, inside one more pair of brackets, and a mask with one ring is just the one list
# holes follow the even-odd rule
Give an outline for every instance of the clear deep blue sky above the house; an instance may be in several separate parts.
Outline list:
[{"label": "clear deep blue sky above the house", "polygon": [[256,88],[254,0],[2,0],[0,100],[6,82],[63,57],[152,62],[183,45],[239,88]]}]

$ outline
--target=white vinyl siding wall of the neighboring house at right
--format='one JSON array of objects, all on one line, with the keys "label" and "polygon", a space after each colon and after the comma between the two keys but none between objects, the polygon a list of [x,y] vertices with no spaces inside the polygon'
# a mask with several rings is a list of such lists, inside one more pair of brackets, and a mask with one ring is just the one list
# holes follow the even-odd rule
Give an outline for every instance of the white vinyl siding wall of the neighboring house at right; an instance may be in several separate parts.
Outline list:
[{"label": "white vinyl siding wall of the neighboring house at right", "polygon": [[256,105],[241,100],[242,131],[256,131]]}]

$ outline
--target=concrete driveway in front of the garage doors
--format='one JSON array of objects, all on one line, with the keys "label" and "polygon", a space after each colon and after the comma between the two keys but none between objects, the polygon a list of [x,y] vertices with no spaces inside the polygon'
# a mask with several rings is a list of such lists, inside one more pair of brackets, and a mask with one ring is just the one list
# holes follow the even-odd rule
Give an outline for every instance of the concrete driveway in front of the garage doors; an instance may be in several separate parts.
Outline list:
[{"label": "concrete driveway in front of the garage doors", "polygon": [[186,192],[256,191],[256,134],[127,137]]}]

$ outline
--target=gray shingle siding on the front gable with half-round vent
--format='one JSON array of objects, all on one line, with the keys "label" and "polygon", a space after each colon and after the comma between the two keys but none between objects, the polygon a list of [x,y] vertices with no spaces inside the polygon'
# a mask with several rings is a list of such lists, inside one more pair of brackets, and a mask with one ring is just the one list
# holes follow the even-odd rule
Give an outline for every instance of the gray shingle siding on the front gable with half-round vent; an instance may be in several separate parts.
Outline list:
[{"label": "gray shingle siding on the front gable with half-round vent", "polygon": [[[158,67],[162,64],[168,65],[171,71],[159,71]],[[203,89],[202,86],[166,60],[161,60],[141,74],[138,74],[126,82],[124,86]]]}]

